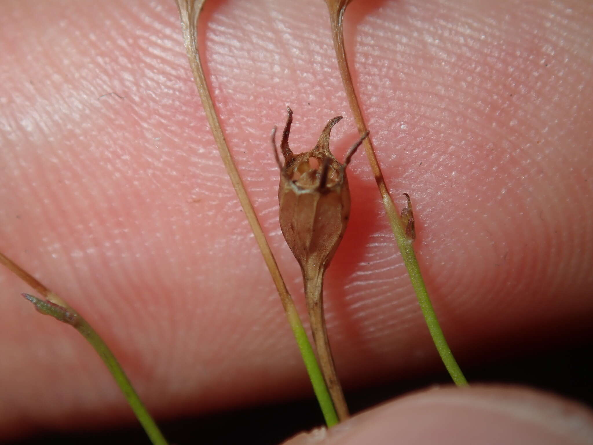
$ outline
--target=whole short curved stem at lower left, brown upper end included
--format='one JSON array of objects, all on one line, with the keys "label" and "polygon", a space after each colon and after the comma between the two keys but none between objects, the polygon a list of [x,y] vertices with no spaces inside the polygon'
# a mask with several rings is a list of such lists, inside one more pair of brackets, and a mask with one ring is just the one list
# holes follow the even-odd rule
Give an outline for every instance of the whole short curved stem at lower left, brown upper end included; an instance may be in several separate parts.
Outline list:
[{"label": "whole short curved stem at lower left, brown upper end included", "polygon": [[122,366],[113,355],[113,352],[111,352],[109,347],[107,347],[103,339],[101,339],[101,337],[87,322],[87,320],[82,318],[78,312],[66,304],[62,298],[50,291],[36,278],[21,268],[21,266],[1,252],[0,264],[7,266],[11,272],[14,272],[14,274],[18,275],[18,277],[21,278],[25,283],[30,285],[34,290],[42,294],[43,297],[47,299],[46,301],[30,294],[23,294],[23,297],[34,304],[35,309],[37,309],[38,312],[52,316],[56,320],[66,323],[67,325],[71,325],[73,328],[78,330],[78,332],[80,332],[84,338],[87,339],[95,351],[97,351],[97,354],[99,354],[99,357],[101,357],[103,363],[106,364],[107,369],[109,369],[109,372],[115,379],[117,386],[119,386],[120,390],[122,390],[127,403],[129,403],[130,408],[132,408],[132,411],[136,415],[136,418],[138,418],[138,421],[142,425],[142,428],[144,428],[144,431],[146,431],[146,435],[151,440],[151,442],[154,445],[167,445],[167,440],[165,440],[164,436],[162,436],[157,424],[152,419],[148,410],[146,410],[142,400],[140,400],[138,397],[138,393],[136,393],[132,383],[130,383],[130,380],[127,378]]}]

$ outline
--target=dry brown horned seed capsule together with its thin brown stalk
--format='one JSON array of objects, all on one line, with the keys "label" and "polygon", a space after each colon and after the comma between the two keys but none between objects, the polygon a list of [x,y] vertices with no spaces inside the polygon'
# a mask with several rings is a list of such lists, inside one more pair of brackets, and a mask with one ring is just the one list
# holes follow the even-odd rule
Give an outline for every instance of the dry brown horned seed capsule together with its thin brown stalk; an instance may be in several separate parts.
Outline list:
[{"label": "dry brown horned seed capsule together with its thin brown stalk", "polygon": [[323,317],[323,276],[342,240],[350,215],[350,190],[346,167],[350,158],[368,135],[362,136],[346,154],[343,164],[331,154],[331,128],[342,119],[327,122],[317,145],[311,151],[294,154],[288,147],[292,110],[282,134],[282,165],[276,150],[275,130],[272,142],[280,167],[280,228],[301,266],[305,299],[321,371],[340,419],[348,417],[346,402],[336,377]]}]

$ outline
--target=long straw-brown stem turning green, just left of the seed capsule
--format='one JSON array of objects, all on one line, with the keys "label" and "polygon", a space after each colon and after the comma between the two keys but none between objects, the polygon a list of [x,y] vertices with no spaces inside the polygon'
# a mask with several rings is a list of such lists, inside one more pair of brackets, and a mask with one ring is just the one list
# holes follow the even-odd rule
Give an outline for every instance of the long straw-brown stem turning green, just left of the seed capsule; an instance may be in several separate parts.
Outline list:
[{"label": "long straw-brown stem turning green, just left of the seed capsule", "polygon": [[183,40],[187,51],[187,58],[189,59],[189,64],[190,68],[192,68],[197,91],[200,95],[200,99],[202,100],[202,105],[206,112],[206,117],[208,118],[208,123],[216,141],[218,151],[220,152],[222,161],[227,169],[227,174],[231,179],[233,187],[235,188],[235,192],[237,193],[239,201],[241,202],[241,206],[243,207],[243,212],[247,217],[247,221],[251,226],[251,230],[253,231],[257,244],[262,251],[264,261],[266,262],[267,268],[270,272],[270,275],[272,276],[274,284],[276,285],[276,289],[278,290],[280,301],[282,301],[282,306],[285,310],[286,317],[288,318],[292,332],[294,332],[295,338],[297,339],[302,360],[305,362],[305,367],[307,368],[309,378],[313,384],[315,396],[317,397],[317,401],[319,402],[321,411],[323,412],[326,424],[328,427],[331,427],[338,422],[336,410],[334,409],[333,403],[331,402],[331,397],[323,380],[323,375],[321,374],[319,365],[317,363],[317,358],[315,358],[313,348],[311,348],[307,334],[302,328],[302,323],[299,319],[297,308],[295,307],[291,295],[288,293],[288,289],[286,289],[286,285],[282,279],[278,265],[276,264],[276,259],[274,258],[270,246],[267,244],[266,236],[263,233],[262,226],[257,219],[256,212],[253,208],[253,205],[251,205],[251,201],[247,195],[247,191],[243,185],[243,181],[241,180],[237,166],[235,165],[235,162],[231,156],[231,152],[228,149],[227,141],[224,137],[224,133],[222,132],[222,127],[212,101],[212,95],[210,94],[208,83],[206,82],[206,77],[204,75],[202,61],[200,59],[200,53],[197,46],[197,22],[205,1],[206,0],[177,0],[177,6],[179,8],[179,14],[181,18],[181,30],[183,31]]}]

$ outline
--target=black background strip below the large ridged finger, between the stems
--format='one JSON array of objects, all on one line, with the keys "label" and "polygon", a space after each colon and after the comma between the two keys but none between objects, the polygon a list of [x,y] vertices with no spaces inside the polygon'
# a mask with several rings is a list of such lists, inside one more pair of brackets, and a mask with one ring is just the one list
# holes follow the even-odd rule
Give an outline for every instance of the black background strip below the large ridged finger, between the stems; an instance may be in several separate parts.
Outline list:
[{"label": "black background strip below the large ridged finger, between the stems", "polygon": [[[589,356],[593,340],[570,348],[530,349],[529,354],[505,358],[479,367],[467,368],[464,373],[470,382],[522,384],[556,392],[586,405],[593,406],[593,365]],[[435,383],[449,384],[443,372],[415,380],[371,386],[347,392],[350,410],[355,413],[411,390]],[[323,422],[315,400],[259,406],[240,411],[184,418],[160,424],[171,444],[201,443],[207,445],[237,444],[247,440],[257,445],[277,445],[302,430],[317,427]],[[149,440],[138,428],[91,431],[87,434],[46,435],[34,440],[16,441],[10,445],[88,444],[104,445],[146,444]]]}]

